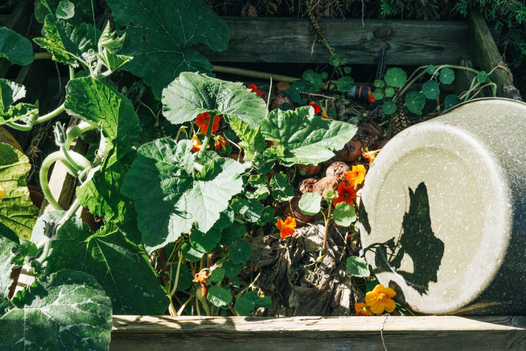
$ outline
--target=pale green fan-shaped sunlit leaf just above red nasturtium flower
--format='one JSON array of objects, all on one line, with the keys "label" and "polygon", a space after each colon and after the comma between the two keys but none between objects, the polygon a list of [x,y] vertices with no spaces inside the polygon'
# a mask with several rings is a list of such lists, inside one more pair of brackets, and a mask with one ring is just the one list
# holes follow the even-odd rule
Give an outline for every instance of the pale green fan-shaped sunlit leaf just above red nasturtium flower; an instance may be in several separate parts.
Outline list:
[{"label": "pale green fan-shaped sunlit leaf just above red nasturtium flower", "polygon": [[216,111],[237,117],[250,128],[265,118],[263,99],[241,83],[184,72],[163,90],[163,114],[173,124],[192,121],[200,113]]}]

